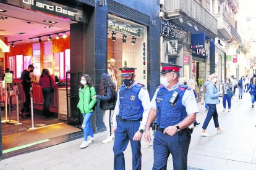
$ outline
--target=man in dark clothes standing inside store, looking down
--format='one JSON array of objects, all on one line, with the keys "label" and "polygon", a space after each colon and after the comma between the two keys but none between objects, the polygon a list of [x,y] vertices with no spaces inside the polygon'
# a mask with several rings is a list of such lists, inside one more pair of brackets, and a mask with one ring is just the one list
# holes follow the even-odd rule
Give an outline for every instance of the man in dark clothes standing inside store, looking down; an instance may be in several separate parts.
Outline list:
[{"label": "man in dark clothes standing inside store, looking down", "polygon": [[32,64],[28,65],[28,68],[22,71],[22,88],[25,93],[25,102],[23,103],[22,110],[20,111],[19,116],[22,118],[27,118],[30,116],[30,87],[32,87],[33,81],[31,81],[30,73],[33,73],[34,66]]}]

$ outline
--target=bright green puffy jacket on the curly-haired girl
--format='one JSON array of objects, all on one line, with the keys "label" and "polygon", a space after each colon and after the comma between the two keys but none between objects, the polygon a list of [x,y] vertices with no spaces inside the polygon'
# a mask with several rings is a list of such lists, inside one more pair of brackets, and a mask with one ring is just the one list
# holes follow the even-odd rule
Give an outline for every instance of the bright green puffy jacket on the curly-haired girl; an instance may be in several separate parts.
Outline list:
[{"label": "bright green puffy jacket on the curly-haired girl", "polygon": [[79,88],[79,103],[77,104],[77,108],[80,109],[81,113],[90,113],[93,112],[93,106],[96,103],[96,99],[93,95],[96,94],[95,88],[89,86],[85,86],[83,89]]}]

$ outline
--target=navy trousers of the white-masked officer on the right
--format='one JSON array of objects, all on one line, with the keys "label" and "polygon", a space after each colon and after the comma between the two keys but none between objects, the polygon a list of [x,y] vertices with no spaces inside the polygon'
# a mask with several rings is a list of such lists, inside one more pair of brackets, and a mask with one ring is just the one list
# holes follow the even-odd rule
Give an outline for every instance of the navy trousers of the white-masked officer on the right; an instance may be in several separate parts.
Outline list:
[{"label": "navy trousers of the white-masked officer on the right", "polygon": [[173,156],[173,169],[187,169],[187,153],[191,135],[188,132],[169,136],[161,131],[156,131],[154,138],[154,165],[153,169],[166,169],[167,160],[171,153]]}]

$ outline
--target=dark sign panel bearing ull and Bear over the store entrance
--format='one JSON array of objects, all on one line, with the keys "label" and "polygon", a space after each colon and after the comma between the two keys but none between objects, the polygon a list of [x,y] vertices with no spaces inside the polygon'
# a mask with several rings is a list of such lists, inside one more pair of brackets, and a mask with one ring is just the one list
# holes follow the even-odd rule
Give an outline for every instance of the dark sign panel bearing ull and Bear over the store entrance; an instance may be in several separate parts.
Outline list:
[{"label": "dark sign panel bearing ull and Bear over the store entrance", "polygon": [[[11,3],[11,2],[10,2]],[[82,21],[82,10],[46,0],[22,0],[22,7]]]}]

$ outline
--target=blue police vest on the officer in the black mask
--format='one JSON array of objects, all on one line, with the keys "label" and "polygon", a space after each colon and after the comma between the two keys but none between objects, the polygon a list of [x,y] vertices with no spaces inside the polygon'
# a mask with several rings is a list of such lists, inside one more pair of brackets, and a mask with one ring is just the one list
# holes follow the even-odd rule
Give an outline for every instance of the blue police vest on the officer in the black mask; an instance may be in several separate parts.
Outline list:
[{"label": "blue police vest on the officer in the black mask", "polygon": [[139,92],[142,84],[135,84],[134,87],[127,89],[122,85],[119,91],[119,116],[123,119],[137,120],[142,117],[143,106],[139,99]]}]

